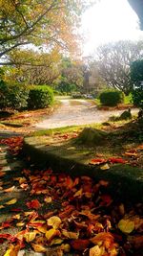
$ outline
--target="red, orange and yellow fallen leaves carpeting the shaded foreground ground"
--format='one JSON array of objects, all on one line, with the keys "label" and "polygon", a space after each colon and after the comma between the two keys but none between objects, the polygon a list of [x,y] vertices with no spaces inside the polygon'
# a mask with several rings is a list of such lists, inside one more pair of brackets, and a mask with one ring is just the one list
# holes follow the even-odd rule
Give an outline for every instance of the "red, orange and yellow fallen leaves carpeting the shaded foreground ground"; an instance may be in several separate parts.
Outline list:
[{"label": "red, orange and yellow fallen leaves carpeting the shaded foreground ground", "polygon": [[[3,140],[15,155],[23,139]],[[142,150],[142,148],[141,148]],[[119,159],[119,160],[116,160]],[[101,159],[102,160],[102,159]],[[110,158],[111,163],[120,158]],[[96,162],[96,160],[94,161]],[[107,161],[98,161],[106,164]],[[1,171],[3,174],[3,171]],[[1,175],[3,188],[5,173]],[[29,197],[17,207],[17,198],[10,198],[3,208],[11,217],[0,224],[0,244],[9,244],[5,256],[16,256],[23,249],[55,255],[141,256],[143,250],[142,204],[125,204],[108,192],[109,182],[95,182],[89,176],[72,178],[55,174],[51,169],[24,169],[13,184],[3,189],[11,194],[16,188]],[[10,207],[10,208],[9,208]],[[9,232],[18,227],[16,233]]]}]

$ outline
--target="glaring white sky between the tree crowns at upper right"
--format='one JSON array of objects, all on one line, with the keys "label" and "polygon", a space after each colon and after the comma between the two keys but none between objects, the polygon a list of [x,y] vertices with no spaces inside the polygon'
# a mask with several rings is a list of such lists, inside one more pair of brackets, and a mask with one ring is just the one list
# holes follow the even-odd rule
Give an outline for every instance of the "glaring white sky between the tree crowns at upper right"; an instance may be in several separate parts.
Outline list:
[{"label": "glaring white sky between the tree crowns at upper right", "polygon": [[124,39],[143,39],[139,20],[127,0],[100,0],[82,17],[83,55],[100,44]]}]

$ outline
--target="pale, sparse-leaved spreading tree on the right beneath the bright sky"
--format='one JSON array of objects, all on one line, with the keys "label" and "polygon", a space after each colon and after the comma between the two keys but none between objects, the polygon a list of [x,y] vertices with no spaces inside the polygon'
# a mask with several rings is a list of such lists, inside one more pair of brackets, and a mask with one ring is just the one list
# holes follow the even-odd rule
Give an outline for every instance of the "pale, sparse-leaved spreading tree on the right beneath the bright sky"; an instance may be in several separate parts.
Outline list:
[{"label": "pale, sparse-leaved spreading tree on the right beneath the bright sky", "polygon": [[100,46],[95,57],[99,75],[108,86],[129,94],[133,88],[130,64],[143,57],[142,49],[142,41],[118,41]]}]

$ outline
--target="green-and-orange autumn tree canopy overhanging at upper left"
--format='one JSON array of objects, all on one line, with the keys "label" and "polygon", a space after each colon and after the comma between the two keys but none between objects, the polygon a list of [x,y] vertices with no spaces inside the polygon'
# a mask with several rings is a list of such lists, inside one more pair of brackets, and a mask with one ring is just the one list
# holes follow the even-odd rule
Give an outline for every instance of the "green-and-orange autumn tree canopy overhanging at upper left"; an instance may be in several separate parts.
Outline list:
[{"label": "green-and-orange autumn tree canopy overhanging at upper left", "polygon": [[28,44],[73,51],[83,4],[83,0],[0,0],[0,58]]}]

